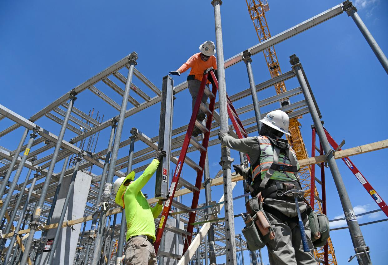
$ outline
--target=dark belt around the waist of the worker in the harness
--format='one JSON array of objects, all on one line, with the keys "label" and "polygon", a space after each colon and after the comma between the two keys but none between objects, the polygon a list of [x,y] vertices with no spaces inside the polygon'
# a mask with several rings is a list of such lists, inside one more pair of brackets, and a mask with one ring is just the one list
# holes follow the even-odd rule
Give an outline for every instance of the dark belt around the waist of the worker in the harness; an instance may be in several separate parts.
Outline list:
[{"label": "dark belt around the waist of the worker in the harness", "polygon": [[[295,201],[293,194],[284,194],[290,189],[301,189],[299,182],[296,181],[268,181],[268,188],[262,190],[263,198],[271,198],[284,201]],[[298,198],[298,201],[303,201],[303,197]]]}]

